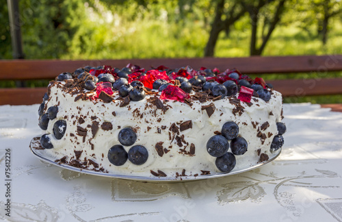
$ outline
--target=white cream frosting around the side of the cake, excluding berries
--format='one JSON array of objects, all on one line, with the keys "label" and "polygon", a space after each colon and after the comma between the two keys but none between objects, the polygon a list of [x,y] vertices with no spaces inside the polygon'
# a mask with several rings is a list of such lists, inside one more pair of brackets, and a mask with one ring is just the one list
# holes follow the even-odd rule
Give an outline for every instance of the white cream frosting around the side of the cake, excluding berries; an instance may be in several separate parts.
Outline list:
[{"label": "white cream frosting around the side of the cake, excluding berries", "polygon": [[[181,174],[183,169],[185,169],[186,175],[200,175],[201,170],[211,171],[211,173],[220,172],[215,166],[215,157],[210,156],[207,152],[206,144],[211,136],[215,136],[214,132],[221,131],[222,125],[227,121],[237,123],[239,136],[244,137],[248,142],[248,151],[244,155],[235,156],[234,171],[253,166],[259,161],[258,149],[261,149],[261,153],[270,154],[269,147],[274,136],[278,133],[276,123],[281,120],[282,97],[276,91],[273,91],[268,102],[256,97],[252,97],[252,106],[241,102],[244,112],[240,116],[238,113],[233,114],[232,110],[235,105],[231,104],[227,97],[205,103],[192,101],[192,106],[179,101],[167,101],[166,105],[169,106],[169,109],[163,113],[163,110],[158,110],[155,106],[146,106],[148,103],[146,99],[149,96],[141,101],[131,101],[128,106],[124,107],[119,106],[122,102],[120,100],[114,100],[110,103],[104,103],[101,99],[95,101],[79,99],[75,101],[77,95],[65,93],[61,87],[63,84],[58,82],[51,87],[47,101],[46,108],[50,106],[58,106],[59,108],[57,117],[49,121],[49,127],[43,131],[43,134],[50,134],[49,137],[54,147],[53,149],[46,149],[47,153],[56,159],[67,156],[66,161],[70,161],[76,159],[74,151],[82,151],[79,160],[83,161],[85,158],[86,160],[93,160],[99,165],[98,168],[103,167],[109,173],[120,175],[154,177],[150,170],[155,172],[161,170],[168,177],[174,177],[176,173]],[[118,93],[114,92],[112,97],[118,98]],[[209,117],[206,110],[201,110],[201,107],[210,103],[214,103],[215,112]],[[133,112],[134,110],[135,112]],[[112,112],[115,112],[116,116]],[[270,114],[271,112],[272,114]],[[96,116],[96,119],[93,120],[92,116]],[[84,123],[79,123],[79,117],[84,119]],[[53,124],[58,120],[66,121],[66,132],[60,140],[53,136]],[[172,135],[172,132],[169,131],[172,123],[176,123],[179,127],[177,123],[189,120],[192,121],[192,128],[179,132],[179,136],[184,135],[184,140],[188,143],[186,151],[189,151],[190,145],[194,144],[195,153],[193,156],[182,153],[180,149],[183,149],[185,145],[179,147],[176,139],[171,141],[169,136],[169,133]],[[90,128],[93,121],[99,123],[98,132],[94,138],[92,138]],[[111,123],[113,129],[103,130],[101,125],[104,122]],[[256,127],[253,126],[252,122],[257,123]],[[267,136],[262,143],[257,134],[265,122],[269,123],[269,127],[266,130],[261,130],[261,133]],[[77,126],[87,130],[84,143],[83,136],[77,134]],[[158,133],[158,128],[162,129],[163,126],[166,129],[160,130]],[[148,150],[148,159],[144,164],[135,165],[127,160],[122,166],[116,167],[109,162],[108,150],[114,145],[120,145],[118,133],[124,127],[135,128],[137,140],[134,145],[142,145]],[[163,142],[163,148],[169,150],[162,157],[158,155],[155,149],[156,143],[159,142]],[[128,152],[132,146],[124,146],[124,149]],[[170,148],[171,146],[172,148]],[[231,148],[228,151],[231,151]],[[89,169],[92,168],[94,166],[90,165]]]}]

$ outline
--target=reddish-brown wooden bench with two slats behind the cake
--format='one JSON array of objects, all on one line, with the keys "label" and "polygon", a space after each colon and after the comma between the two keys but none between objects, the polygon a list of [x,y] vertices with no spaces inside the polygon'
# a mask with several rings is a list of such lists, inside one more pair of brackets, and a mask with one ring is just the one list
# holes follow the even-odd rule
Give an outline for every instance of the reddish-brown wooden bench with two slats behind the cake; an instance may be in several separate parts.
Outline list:
[{"label": "reddish-brown wooden bench with two slats behind the cake", "polygon": [[[128,63],[149,68],[159,65],[176,68],[201,66],[221,71],[237,68],[244,74],[319,73],[324,77],[330,71],[342,71],[342,55],[334,56],[277,56],[248,58],[185,58],[185,59],[134,59],[134,60],[0,60],[1,80],[54,79],[65,71],[83,66],[107,64],[122,68]],[[342,95],[342,78],[285,79],[267,81],[284,97],[310,95]],[[0,105],[29,105],[40,103],[47,88],[0,88]],[[341,105],[341,104],[340,104]],[[340,105],[335,105],[339,109]],[[342,106],[341,106],[342,107]],[[342,109],[341,109],[342,110]]]}]

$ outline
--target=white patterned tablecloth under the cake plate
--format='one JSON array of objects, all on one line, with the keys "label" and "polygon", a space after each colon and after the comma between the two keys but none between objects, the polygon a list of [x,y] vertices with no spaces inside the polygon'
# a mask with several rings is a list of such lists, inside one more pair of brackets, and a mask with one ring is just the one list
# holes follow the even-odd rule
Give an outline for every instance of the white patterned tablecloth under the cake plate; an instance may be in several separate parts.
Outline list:
[{"label": "white patterned tablecloth under the cake plate", "polygon": [[84,175],[38,160],[29,151],[31,138],[40,134],[37,110],[38,105],[0,106],[0,219],[342,221],[342,113],[285,104],[285,145],[272,163],[209,180],[146,183]]}]

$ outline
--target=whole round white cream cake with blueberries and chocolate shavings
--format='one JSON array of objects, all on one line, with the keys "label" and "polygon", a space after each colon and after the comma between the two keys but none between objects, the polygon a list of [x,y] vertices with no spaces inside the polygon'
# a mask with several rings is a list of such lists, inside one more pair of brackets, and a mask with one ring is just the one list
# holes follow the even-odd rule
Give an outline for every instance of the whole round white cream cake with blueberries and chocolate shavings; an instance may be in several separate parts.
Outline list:
[{"label": "whole round white cream cake with blueberries and chocolate shavings", "polygon": [[61,73],[38,110],[55,162],[132,177],[198,177],[280,152],[282,96],[236,69],[99,66]]}]

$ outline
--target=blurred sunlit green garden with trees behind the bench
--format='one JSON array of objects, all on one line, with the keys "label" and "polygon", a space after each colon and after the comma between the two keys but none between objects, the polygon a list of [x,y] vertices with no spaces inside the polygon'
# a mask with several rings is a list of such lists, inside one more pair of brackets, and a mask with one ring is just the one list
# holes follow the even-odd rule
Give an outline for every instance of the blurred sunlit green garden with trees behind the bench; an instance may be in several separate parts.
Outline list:
[{"label": "blurred sunlit green garden with trees behind the bench", "polygon": [[[8,7],[5,0],[1,1],[0,59],[11,59]],[[19,7],[25,59],[342,53],[341,0],[21,0]],[[267,81],[321,76],[293,73],[259,77]],[[342,77],[342,72],[324,77]],[[47,86],[48,81],[26,84]],[[0,82],[0,87],[15,86],[14,81]],[[285,102],[303,101],[341,103],[341,96],[285,98]]]}]

